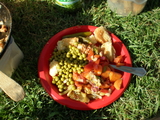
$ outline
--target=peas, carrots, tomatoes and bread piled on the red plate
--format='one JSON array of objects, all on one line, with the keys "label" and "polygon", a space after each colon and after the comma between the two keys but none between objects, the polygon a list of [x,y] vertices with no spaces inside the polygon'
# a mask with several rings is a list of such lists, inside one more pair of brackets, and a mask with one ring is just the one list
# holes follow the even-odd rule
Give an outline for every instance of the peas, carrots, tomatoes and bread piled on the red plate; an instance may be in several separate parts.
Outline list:
[{"label": "peas, carrots, tomatoes and bread piled on the red plate", "polygon": [[[122,75],[109,66],[117,57],[111,37],[102,26],[95,31],[87,37],[71,36],[57,42],[50,58],[49,74],[60,95],[89,103],[110,96],[114,88],[121,88],[122,82],[115,85],[114,82]],[[102,40],[97,40],[97,36]],[[109,49],[103,47],[105,44],[110,45]]]}]

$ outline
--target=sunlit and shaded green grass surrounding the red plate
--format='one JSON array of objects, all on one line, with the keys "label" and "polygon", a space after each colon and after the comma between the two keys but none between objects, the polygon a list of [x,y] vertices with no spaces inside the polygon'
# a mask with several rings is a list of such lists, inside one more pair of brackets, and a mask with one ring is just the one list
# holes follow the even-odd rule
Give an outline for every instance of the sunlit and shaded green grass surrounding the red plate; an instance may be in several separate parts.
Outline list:
[{"label": "sunlit and shaded green grass surrounding the red plate", "polygon": [[[58,11],[52,0],[1,0],[13,18],[12,36],[24,59],[12,78],[26,96],[14,102],[0,93],[2,120],[146,120],[160,110],[160,1],[148,0],[136,16],[120,17],[106,0],[86,0],[75,14]],[[37,72],[40,52],[57,32],[75,25],[105,26],[128,48],[133,66],[144,67],[144,77],[133,75],[124,94],[113,104],[91,111],[67,108],[52,100],[42,88]]]}]

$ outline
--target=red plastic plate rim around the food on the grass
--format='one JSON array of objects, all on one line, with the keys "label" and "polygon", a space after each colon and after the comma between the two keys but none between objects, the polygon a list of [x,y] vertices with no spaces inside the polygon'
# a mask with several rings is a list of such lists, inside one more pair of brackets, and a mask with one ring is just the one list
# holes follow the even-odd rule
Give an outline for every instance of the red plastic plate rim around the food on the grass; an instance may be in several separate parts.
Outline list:
[{"label": "red plastic plate rim around the food on the grass", "polygon": [[[55,101],[72,109],[95,110],[95,109],[108,106],[114,101],[116,101],[123,94],[123,92],[126,90],[130,82],[131,74],[123,72],[123,77],[122,77],[123,85],[120,90],[114,90],[111,96],[109,97],[104,96],[102,99],[92,100],[88,104],[72,100],[68,98],[66,95],[63,95],[63,96],[59,95],[57,87],[52,84],[51,82],[52,78],[49,75],[49,58],[51,57],[54,48],[57,46],[57,41],[61,40],[62,36],[64,35],[78,33],[78,32],[85,32],[85,31],[93,32],[96,28],[97,27],[95,26],[82,25],[82,26],[74,26],[74,27],[70,27],[65,30],[62,30],[61,32],[54,35],[46,43],[39,57],[38,74],[39,74],[40,82],[43,88]],[[111,33],[110,35],[112,37],[113,46],[117,52],[116,54],[125,56],[126,66],[132,66],[131,58],[125,45],[113,33]]]}]

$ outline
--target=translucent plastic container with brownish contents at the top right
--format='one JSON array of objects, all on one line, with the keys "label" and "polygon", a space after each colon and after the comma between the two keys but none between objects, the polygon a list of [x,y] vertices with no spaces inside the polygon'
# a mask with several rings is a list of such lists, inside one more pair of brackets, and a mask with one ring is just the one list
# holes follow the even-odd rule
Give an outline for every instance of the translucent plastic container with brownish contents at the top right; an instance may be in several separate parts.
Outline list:
[{"label": "translucent plastic container with brownish contents at the top right", "polygon": [[146,2],[147,0],[107,0],[109,8],[121,16],[139,14]]}]

